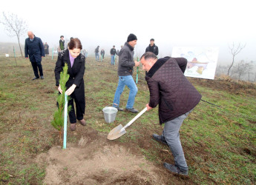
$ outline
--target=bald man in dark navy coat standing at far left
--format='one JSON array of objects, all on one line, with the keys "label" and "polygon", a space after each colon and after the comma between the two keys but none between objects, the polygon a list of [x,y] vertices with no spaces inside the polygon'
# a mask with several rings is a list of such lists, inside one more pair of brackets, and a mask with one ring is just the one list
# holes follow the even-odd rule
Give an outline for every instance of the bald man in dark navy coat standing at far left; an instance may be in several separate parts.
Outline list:
[{"label": "bald man in dark navy coat standing at far left", "polygon": [[[30,58],[31,65],[33,67],[35,77],[33,80],[39,78],[44,79],[44,74],[42,70],[42,57],[45,57],[45,48],[42,44],[42,40],[39,37],[36,37],[33,32],[27,32],[28,38],[25,40],[25,58]],[[39,71],[39,73],[38,73]]]}]

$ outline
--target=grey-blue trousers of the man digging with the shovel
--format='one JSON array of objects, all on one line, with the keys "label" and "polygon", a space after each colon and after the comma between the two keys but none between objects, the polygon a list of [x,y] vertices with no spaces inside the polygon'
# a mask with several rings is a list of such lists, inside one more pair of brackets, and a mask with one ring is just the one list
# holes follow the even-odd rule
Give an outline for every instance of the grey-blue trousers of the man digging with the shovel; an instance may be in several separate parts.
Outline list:
[{"label": "grey-blue trousers of the man digging with the shovel", "polygon": [[180,143],[180,127],[183,124],[185,118],[192,110],[174,118],[171,121],[165,123],[165,127],[162,133],[162,139],[164,138],[168,146],[171,149],[172,155],[174,155],[175,166],[181,171],[188,171],[188,165],[186,164],[186,159],[184,157],[183,147]]}]

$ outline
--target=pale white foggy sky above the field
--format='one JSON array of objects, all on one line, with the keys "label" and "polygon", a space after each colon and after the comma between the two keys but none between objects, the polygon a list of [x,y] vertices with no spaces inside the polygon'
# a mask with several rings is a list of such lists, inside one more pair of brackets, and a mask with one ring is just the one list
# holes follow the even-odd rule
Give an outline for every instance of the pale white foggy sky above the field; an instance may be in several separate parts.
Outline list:
[{"label": "pale white foggy sky above the field", "polygon": [[[27,22],[27,30],[50,47],[59,36],[78,37],[89,53],[99,45],[105,53],[113,45],[120,49],[129,33],[138,40],[135,54],[142,55],[150,38],[160,57],[173,47],[220,47],[218,64],[232,61],[229,45],[246,44],[236,61],[256,61],[255,6],[252,0],[180,1],[4,1],[0,12],[15,13]],[[1,15],[2,18],[2,15]],[[21,42],[24,44],[22,36]],[[0,41],[17,42],[0,24]]]}]

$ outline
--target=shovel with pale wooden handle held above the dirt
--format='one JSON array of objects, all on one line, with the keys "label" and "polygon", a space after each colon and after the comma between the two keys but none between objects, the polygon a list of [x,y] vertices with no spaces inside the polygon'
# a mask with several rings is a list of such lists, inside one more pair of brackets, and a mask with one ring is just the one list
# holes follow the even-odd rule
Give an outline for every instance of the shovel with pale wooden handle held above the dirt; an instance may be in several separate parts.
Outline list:
[{"label": "shovel with pale wooden handle held above the dirt", "polygon": [[111,129],[111,132],[108,133],[108,139],[114,140],[114,139],[120,138],[122,135],[126,133],[125,129],[129,127],[132,123],[134,123],[134,121],[137,120],[137,118],[140,118],[140,115],[142,115],[146,111],[147,111],[147,107],[145,107],[144,110],[142,110],[131,121],[129,121],[129,123],[126,124],[125,127],[122,127],[122,124],[119,124],[119,126],[115,127],[114,129]]}]

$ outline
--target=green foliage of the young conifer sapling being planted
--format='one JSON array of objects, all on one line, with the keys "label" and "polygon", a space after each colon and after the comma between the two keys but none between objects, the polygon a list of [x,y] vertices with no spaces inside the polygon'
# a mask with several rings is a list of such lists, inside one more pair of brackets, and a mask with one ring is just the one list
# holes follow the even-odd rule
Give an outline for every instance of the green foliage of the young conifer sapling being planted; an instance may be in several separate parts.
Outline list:
[{"label": "green foliage of the young conifer sapling being planted", "polygon": [[[66,92],[66,83],[68,81],[68,64],[65,64],[63,67],[62,72],[60,73],[59,85],[62,89],[62,94],[58,95],[57,102],[58,102],[58,110],[54,112],[53,121],[51,124],[55,129],[59,130],[60,137],[62,135],[62,127],[64,126],[64,107],[65,107],[65,92]],[[69,99],[69,96],[68,96]],[[68,112],[70,112],[71,106],[68,107]]]}]

